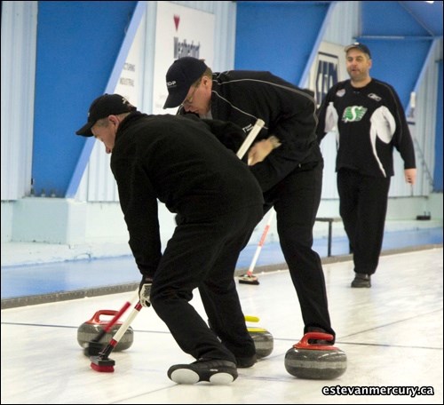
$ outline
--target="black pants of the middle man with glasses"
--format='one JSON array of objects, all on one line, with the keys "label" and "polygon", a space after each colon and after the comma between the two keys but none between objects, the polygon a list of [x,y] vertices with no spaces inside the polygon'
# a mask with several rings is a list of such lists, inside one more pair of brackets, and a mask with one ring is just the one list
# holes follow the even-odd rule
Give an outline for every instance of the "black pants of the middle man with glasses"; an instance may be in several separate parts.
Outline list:
[{"label": "black pants of the middle man with glasses", "polygon": [[335,336],[321,258],[312,249],[313,226],[321,202],[322,161],[303,164],[264,194],[266,210],[274,206],[277,231],[301,307],[304,332],[318,327]]}]

